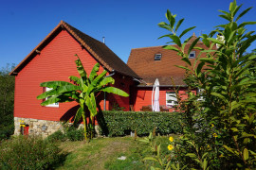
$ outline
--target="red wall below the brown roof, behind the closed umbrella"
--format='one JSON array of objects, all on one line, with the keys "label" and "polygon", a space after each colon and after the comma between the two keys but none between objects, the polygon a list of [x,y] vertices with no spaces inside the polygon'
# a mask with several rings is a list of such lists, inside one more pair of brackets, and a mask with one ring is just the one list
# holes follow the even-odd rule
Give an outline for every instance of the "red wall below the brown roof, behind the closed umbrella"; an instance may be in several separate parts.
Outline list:
[{"label": "red wall below the brown roof, behind the closed umbrella", "polygon": [[[137,95],[134,98],[134,109],[139,111],[142,106],[152,105],[152,87],[140,87],[137,88]],[[174,92],[173,88],[164,88],[160,87],[159,91],[159,105],[166,106],[166,92]],[[196,93],[196,91],[192,91]],[[185,99],[186,96],[186,88],[179,89],[178,93],[180,94],[181,98]],[[172,109],[170,110],[172,111]]]}]

